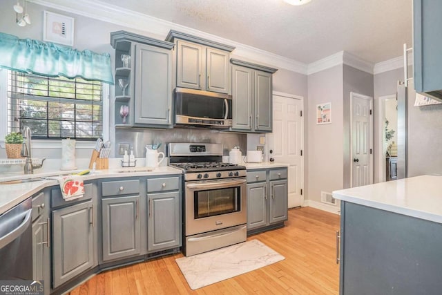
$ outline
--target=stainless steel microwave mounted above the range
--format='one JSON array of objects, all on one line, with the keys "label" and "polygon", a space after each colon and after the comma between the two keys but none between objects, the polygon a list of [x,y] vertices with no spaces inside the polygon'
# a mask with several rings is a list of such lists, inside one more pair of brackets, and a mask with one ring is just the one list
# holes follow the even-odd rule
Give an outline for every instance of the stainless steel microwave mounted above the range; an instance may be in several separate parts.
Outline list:
[{"label": "stainless steel microwave mounted above the range", "polygon": [[229,128],[232,126],[232,97],[224,93],[175,88],[175,125]]}]

